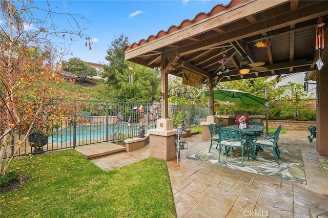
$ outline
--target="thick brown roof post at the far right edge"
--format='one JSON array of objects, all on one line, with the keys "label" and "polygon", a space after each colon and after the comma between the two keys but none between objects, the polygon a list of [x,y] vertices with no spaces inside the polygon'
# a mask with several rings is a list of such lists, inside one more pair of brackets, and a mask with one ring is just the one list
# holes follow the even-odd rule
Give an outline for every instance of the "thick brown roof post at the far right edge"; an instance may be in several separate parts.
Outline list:
[{"label": "thick brown roof post at the far right edge", "polygon": [[320,155],[328,156],[328,52],[321,53],[324,66],[317,71],[317,92],[319,103],[317,104],[317,151]]}]

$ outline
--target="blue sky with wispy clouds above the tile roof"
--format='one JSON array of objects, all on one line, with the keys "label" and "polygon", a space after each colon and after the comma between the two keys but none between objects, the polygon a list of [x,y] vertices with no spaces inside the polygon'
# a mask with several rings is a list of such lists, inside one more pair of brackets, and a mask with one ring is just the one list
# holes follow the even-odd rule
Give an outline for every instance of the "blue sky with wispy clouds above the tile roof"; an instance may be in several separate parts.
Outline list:
[{"label": "blue sky with wispy clouds above the tile roof", "polygon": [[[194,19],[200,12],[208,13],[218,4],[227,5],[230,1],[215,0],[148,0],[148,1],[49,1],[56,12],[83,15],[79,20],[83,34],[91,37],[92,50],[85,47],[85,39],[75,38],[70,46],[69,56],[83,61],[106,64],[107,50],[111,42],[121,34],[129,42],[139,42],[160,30],[167,31],[172,25],[179,26],[185,19]],[[36,0],[34,5],[45,8],[46,1]],[[67,25],[62,20],[59,27]]]}]

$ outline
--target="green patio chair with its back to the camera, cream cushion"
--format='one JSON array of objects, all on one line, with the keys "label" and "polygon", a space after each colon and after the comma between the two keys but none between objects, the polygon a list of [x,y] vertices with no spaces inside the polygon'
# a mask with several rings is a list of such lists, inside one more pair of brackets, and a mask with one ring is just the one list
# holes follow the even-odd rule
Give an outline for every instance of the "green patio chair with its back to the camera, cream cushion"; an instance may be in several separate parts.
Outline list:
[{"label": "green patio chair with its back to the camera, cream cushion", "polygon": [[[241,166],[244,166],[244,148],[247,149],[247,157],[248,157],[248,160],[250,160],[249,150],[248,150],[248,146],[247,146],[247,140],[242,138],[240,130],[222,128],[219,130],[218,135],[219,135],[219,158],[218,158],[218,161],[220,161],[222,146],[225,147],[227,156],[228,156],[230,147],[232,147],[232,148],[238,147],[241,149]],[[227,150],[227,147],[229,147],[228,150]]]}]

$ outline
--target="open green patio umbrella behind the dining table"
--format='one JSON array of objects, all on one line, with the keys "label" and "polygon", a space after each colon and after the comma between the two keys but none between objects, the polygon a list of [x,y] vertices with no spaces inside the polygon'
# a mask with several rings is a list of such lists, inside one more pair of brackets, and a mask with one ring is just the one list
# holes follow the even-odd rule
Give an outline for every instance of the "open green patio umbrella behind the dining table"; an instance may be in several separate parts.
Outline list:
[{"label": "open green patio umbrella behind the dining table", "polygon": [[[210,96],[210,92],[205,92],[205,96]],[[214,90],[214,99],[220,101],[230,101],[241,104],[264,104],[269,101],[269,99],[261,98],[256,95],[252,95],[247,92],[242,92],[239,90]]]}]

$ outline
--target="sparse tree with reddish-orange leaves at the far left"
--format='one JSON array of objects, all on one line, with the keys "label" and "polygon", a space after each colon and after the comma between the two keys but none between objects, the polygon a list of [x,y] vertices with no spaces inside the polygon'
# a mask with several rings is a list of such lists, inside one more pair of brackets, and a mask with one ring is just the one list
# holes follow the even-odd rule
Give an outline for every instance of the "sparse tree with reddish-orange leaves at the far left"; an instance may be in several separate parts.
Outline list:
[{"label": "sparse tree with reddish-orange leaves at the far left", "polygon": [[[77,23],[78,18],[84,17],[53,12],[50,4],[46,9],[33,7],[32,1],[2,0],[0,4],[0,19],[4,20],[0,27],[0,166],[3,176],[33,129],[46,131],[44,127],[51,128],[51,123],[56,124],[64,117],[61,115],[69,113],[69,105],[57,107],[56,99],[63,95],[53,87],[62,78],[58,69],[53,69],[54,59],[47,56],[55,51],[55,59],[60,61],[66,54],[66,48],[57,48],[50,39],[57,37],[71,42],[73,36],[84,37]],[[35,10],[42,10],[46,17],[38,18]],[[71,24],[71,29],[57,31],[57,25],[52,22],[56,16],[66,18],[67,24],[71,24],[71,20],[76,24]],[[25,28],[27,26],[30,28]],[[16,133],[23,137],[12,144]]]}]

